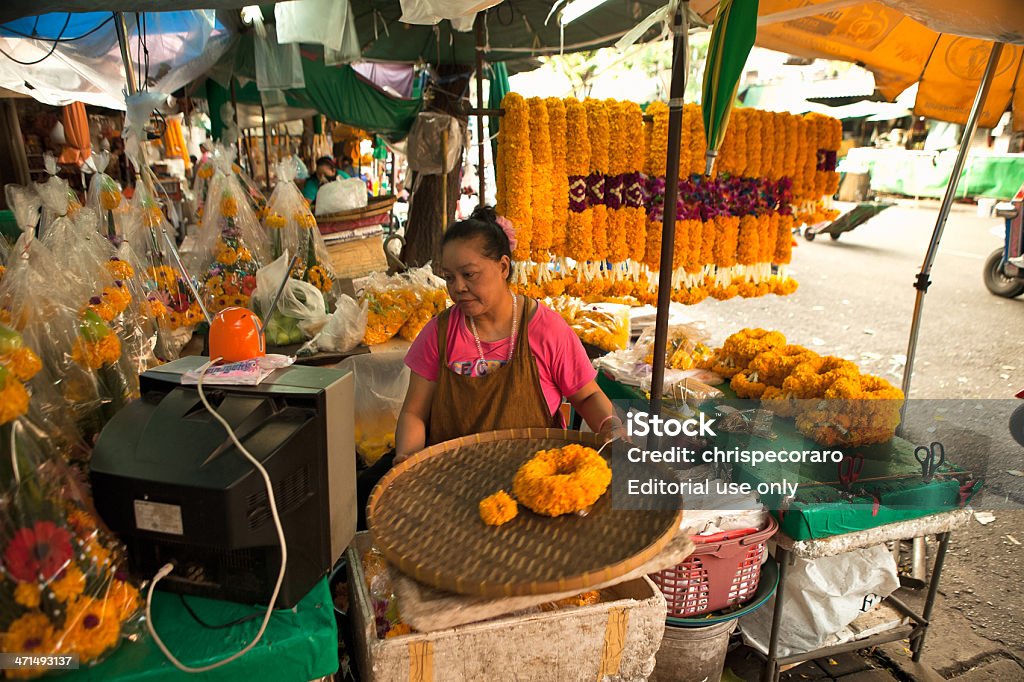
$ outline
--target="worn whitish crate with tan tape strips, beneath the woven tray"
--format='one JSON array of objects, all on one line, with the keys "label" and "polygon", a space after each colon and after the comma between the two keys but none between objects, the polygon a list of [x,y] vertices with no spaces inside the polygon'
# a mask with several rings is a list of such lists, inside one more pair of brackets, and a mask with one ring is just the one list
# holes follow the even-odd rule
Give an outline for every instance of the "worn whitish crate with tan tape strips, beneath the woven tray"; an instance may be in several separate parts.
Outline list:
[{"label": "worn whitish crate with tan tape strips, beneath the woven tray", "polygon": [[[665,597],[647,578],[602,592],[611,601],[507,615],[449,630],[378,639],[362,572],[369,534],[345,553],[355,655],[366,682],[646,680],[665,633]],[[400,608],[400,604],[399,604]]]}]

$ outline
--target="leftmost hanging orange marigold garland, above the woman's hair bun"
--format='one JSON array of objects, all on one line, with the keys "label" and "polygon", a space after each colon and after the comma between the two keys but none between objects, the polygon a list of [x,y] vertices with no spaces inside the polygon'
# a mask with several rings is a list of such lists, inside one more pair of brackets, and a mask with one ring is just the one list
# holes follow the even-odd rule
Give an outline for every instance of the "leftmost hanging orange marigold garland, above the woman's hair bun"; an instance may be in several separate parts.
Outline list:
[{"label": "leftmost hanging orange marigold garland, above the woman's hair bun", "polygon": [[516,248],[512,258],[526,261],[529,260],[534,225],[529,105],[522,95],[510,92],[502,99],[502,109],[505,110],[505,118],[499,135],[505,148],[500,169],[504,175],[501,185],[504,194],[500,203],[503,215],[516,230]]}]

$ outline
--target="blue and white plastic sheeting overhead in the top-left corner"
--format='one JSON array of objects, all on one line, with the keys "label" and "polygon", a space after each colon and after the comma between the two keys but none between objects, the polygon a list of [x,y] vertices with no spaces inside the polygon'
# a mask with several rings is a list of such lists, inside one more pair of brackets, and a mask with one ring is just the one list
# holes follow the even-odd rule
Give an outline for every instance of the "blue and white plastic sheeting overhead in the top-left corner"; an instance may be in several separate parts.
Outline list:
[{"label": "blue and white plastic sheeting overhead in the top-left corner", "polygon": [[[173,92],[183,87],[215,63],[232,41],[212,10],[145,13],[137,23],[135,18],[125,15],[128,42],[138,77],[148,72],[151,90]],[[140,33],[144,33],[148,70],[138,66]],[[54,47],[58,37],[61,42]],[[9,22],[0,27],[0,49],[18,61],[38,61],[26,66],[0,55],[0,87],[55,106],[81,101],[125,109],[125,67],[108,12],[43,14]]]}]

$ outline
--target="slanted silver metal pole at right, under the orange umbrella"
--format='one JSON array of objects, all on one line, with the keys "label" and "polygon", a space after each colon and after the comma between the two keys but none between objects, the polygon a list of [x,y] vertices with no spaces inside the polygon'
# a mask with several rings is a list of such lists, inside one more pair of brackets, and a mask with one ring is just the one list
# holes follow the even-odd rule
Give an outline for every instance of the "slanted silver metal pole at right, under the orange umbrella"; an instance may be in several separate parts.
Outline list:
[{"label": "slanted silver metal pole at right, under the orange umbrella", "polygon": [[[949,184],[946,186],[946,194],[942,198],[942,205],[939,207],[939,216],[935,220],[935,230],[932,232],[932,241],[928,245],[928,252],[925,254],[925,262],[922,264],[918,281],[913,285],[913,288],[918,290],[918,296],[913,302],[910,340],[906,347],[906,366],[903,368],[902,388],[903,395],[906,398],[910,397],[910,375],[913,373],[914,355],[918,353],[918,336],[921,334],[921,315],[925,308],[925,294],[928,293],[928,287],[932,284],[928,278],[932,272],[932,263],[935,261],[935,255],[939,251],[939,241],[942,240],[942,230],[945,229],[946,219],[949,217],[950,209],[952,209],[953,199],[956,197],[956,185],[959,184],[959,176],[964,171],[964,164],[967,161],[968,152],[971,150],[971,141],[974,139],[974,133],[978,129],[978,119],[981,118],[981,110],[984,106],[985,98],[988,96],[992,79],[995,77],[995,68],[999,62],[999,54],[1001,52],[1002,43],[994,43],[992,45],[992,52],[988,55],[988,66],[985,67],[985,75],[982,76],[981,84],[978,86],[978,94],[975,95],[974,104],[971,106],[971,116],[968,118],[967,127],[964,129],[964,135],[961,137],[959,152],[956,154],[956,162],[953,164]],[[904,419],[900,420],[901,429],[902,422],[906,417],[906,404],[907,401],[904,400],[902,410]]]}]

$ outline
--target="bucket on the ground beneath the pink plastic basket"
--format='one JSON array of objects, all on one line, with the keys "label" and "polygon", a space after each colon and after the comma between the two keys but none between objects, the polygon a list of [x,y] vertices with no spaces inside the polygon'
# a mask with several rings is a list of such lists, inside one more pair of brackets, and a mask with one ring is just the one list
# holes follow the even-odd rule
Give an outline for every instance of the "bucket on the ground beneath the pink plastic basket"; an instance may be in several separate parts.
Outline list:
[{"label": "bucket on the ground beneath the pink plastic basket", "polygon": [[735,629],[736,621],[707,628],[666,625],[649,682],[718,682]]}]

